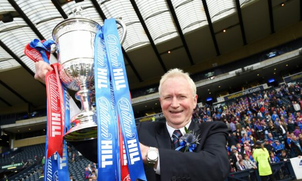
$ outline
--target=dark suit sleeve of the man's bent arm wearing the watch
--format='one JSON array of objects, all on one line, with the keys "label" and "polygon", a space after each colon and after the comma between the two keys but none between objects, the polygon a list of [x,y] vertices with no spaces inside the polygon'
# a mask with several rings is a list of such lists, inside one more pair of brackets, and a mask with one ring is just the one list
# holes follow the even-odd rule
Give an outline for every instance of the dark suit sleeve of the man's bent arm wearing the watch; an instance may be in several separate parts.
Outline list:
[{"label": "dark suit sleeve of the man's bent arm wearing the watch", "polygon": [[227,126],[219,121],[206,126],[209,128],[202,129],[205,133],[202,133],[202,149],[198,152],[159,148],[162,181],[170,181],[172,177],[190,178],[191,181],[226,179],[230,170],[226,150]]}]

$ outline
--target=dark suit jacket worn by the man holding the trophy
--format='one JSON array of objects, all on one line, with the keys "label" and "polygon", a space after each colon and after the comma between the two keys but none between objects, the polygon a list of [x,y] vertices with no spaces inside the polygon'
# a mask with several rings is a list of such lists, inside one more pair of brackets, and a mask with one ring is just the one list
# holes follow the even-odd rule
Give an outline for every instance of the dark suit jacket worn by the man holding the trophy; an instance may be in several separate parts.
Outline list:
[{"label": "dark suit jacket worn by the man holding the trophy", "polygon": [[227,156],[227,126],[223,122],[197,124],[191,122],[189,130],[200,134],[201,140],[194,152],[171,149],[171,138],[163,122],[145,122],[137,126],[139,142],[157,147],[160,175],[145,165],[148,181],[223,181],[230,163]]}]

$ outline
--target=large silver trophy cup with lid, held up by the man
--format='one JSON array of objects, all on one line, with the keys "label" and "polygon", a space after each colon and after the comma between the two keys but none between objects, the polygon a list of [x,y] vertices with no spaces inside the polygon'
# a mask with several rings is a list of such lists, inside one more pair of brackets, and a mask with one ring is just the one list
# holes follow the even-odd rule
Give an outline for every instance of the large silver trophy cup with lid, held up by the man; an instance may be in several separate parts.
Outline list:
[{"label": "large silver trophy cup with lid, held up by the man", "polygon": [[[65,87],[76,90],[76,99],[82,104],[79,114],[71,118],[71,128],[66,141],[84,141],[97,138],[96,112],[92,106],[94,97],[94,37],[101,26],[81,16],[81,8],[74,10],[74,17],[65,19],[53,30],[56,42],[59,76]],[[122,27],[121,44],[126,37],[126,25],[115,19]]]}]

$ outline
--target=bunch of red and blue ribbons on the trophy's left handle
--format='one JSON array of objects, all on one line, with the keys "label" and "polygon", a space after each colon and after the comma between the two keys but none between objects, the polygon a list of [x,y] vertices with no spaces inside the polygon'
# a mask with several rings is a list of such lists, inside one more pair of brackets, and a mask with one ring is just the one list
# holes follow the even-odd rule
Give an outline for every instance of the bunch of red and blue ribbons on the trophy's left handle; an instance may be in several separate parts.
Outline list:
[{"label": "bunch of red and blue ribbons on the trophy's left handle", "polygon": [[[34,39],[25,46],[26,54],[34,62],[44,61],[49,64],[53,40]],[[68,181],[67,145],[63,135],[69,129],[69,95],[58,77],[58,64],[52,64],[53,71],[45,77],[47,90],[47,132],[45,147],[44,178],[47,181]]]}]

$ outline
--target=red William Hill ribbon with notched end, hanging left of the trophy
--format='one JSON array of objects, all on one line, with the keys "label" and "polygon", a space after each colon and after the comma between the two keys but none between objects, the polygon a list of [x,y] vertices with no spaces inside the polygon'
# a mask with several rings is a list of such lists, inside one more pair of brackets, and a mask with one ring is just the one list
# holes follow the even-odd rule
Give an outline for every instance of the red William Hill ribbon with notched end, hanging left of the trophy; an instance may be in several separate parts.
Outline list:
[{"label": "red William Hill ribbon with notched end, hanging left of the trophy", "polygon": [[47,159],[54,153],[63,156],[63,132],[64,132],[64,99],[63,90],[58,74],[58,63],[52,64],[54,69],[46,73],[47,92],[47,132],[48,151]]}]

